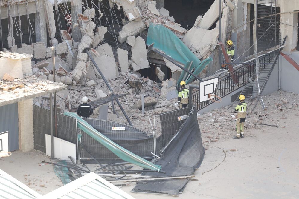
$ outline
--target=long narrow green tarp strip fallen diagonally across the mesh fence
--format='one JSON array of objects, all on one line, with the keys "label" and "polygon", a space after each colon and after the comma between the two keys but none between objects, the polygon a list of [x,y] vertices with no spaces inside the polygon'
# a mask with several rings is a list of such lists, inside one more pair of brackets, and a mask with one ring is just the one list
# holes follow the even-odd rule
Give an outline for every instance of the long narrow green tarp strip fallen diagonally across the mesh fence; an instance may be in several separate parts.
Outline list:
[{"label": "long narrow green tarp strip fallen diagonally across the mesh fence", "polygon": [[141,166],[145,169],[152,169],[156,171],[161,170],[161,166],[155,165],[111,141],[109,138],[107,138],[106,136],[98,132],[96,129],[94,129],[90,124],[84,121],[76,113],[64,112],[64,115],[77,118],[78,128],[86,132],[89,136],[94,138],[103,146],[107,147],[111,152],[113,152],[115,155],[117,155],[124,161],[130,162],[137,166]]}]

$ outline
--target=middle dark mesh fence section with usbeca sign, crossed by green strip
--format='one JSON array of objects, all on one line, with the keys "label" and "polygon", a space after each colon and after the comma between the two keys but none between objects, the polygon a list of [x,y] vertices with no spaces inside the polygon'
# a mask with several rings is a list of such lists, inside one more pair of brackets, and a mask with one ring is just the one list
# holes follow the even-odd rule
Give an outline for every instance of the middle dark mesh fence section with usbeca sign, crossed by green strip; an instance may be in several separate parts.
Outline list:
[{"label": "middle dark mesh fence section with usbeca sign, crossed by green strip", "polygon": [[[98,132],[105,135],[107,138],[122,146],[123,148],[133,152],[134,154],[146,158],[152,159],[154,152],[153,135],[144,132],[135,127],[120,124],[116,122],[99,120],[93,118],[83,118]],[[94,138],[89,136],[86,132],[82,131],[81,143],[86,149],[91,152],[95,158],[101,160],[101,163],[110,163],[115,160],[121,160],[118,156],[113,154],[105,146],[97,142]],[[81,160],[92,160],[88,152],[81,148],[80,151]]]}]

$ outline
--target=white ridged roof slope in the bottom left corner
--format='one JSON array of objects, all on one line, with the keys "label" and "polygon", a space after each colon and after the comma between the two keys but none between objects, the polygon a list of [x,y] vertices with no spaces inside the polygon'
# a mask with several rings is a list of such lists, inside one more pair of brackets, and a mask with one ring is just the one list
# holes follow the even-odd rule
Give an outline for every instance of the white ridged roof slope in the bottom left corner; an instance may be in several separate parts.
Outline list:
[{"label": "white ridged roof slope in the bottom left corner", "polygon": [[39,197],[41,195],[37,192],[0,169],[0,198],[35,199]]}]

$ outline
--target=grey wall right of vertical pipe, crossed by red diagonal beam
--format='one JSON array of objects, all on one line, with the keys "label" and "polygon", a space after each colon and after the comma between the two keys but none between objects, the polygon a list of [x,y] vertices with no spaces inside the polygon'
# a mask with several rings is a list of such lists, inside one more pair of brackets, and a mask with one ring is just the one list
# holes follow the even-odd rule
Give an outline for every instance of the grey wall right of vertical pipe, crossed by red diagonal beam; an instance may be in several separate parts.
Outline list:
[{"label": "grey wall right of vertical pipe, crossed by red diagonal beam", "polygon": [[[299,63],[299,51],[287,54]],[[299,94],[298,77],[299,71],[286,61],[285,58],[281,57],[281,90]]]}]

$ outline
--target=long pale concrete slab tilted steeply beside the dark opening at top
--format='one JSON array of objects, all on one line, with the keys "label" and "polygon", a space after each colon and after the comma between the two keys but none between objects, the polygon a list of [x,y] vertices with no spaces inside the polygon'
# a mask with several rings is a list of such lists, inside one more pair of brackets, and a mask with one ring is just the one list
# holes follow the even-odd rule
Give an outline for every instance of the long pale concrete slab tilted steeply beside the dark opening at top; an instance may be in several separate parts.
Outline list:
[{"label": "long pale concrete slab tilted steeply beside the dark opening at top", "polygon": [[210,9],[202,17],[202,20],[199,21],[197,27],[210,29],[210,27],[219,18],[219,3],[220,3],[220,9],[222,13],[223,1],[215,0],[214,3],[211,5]]}]

